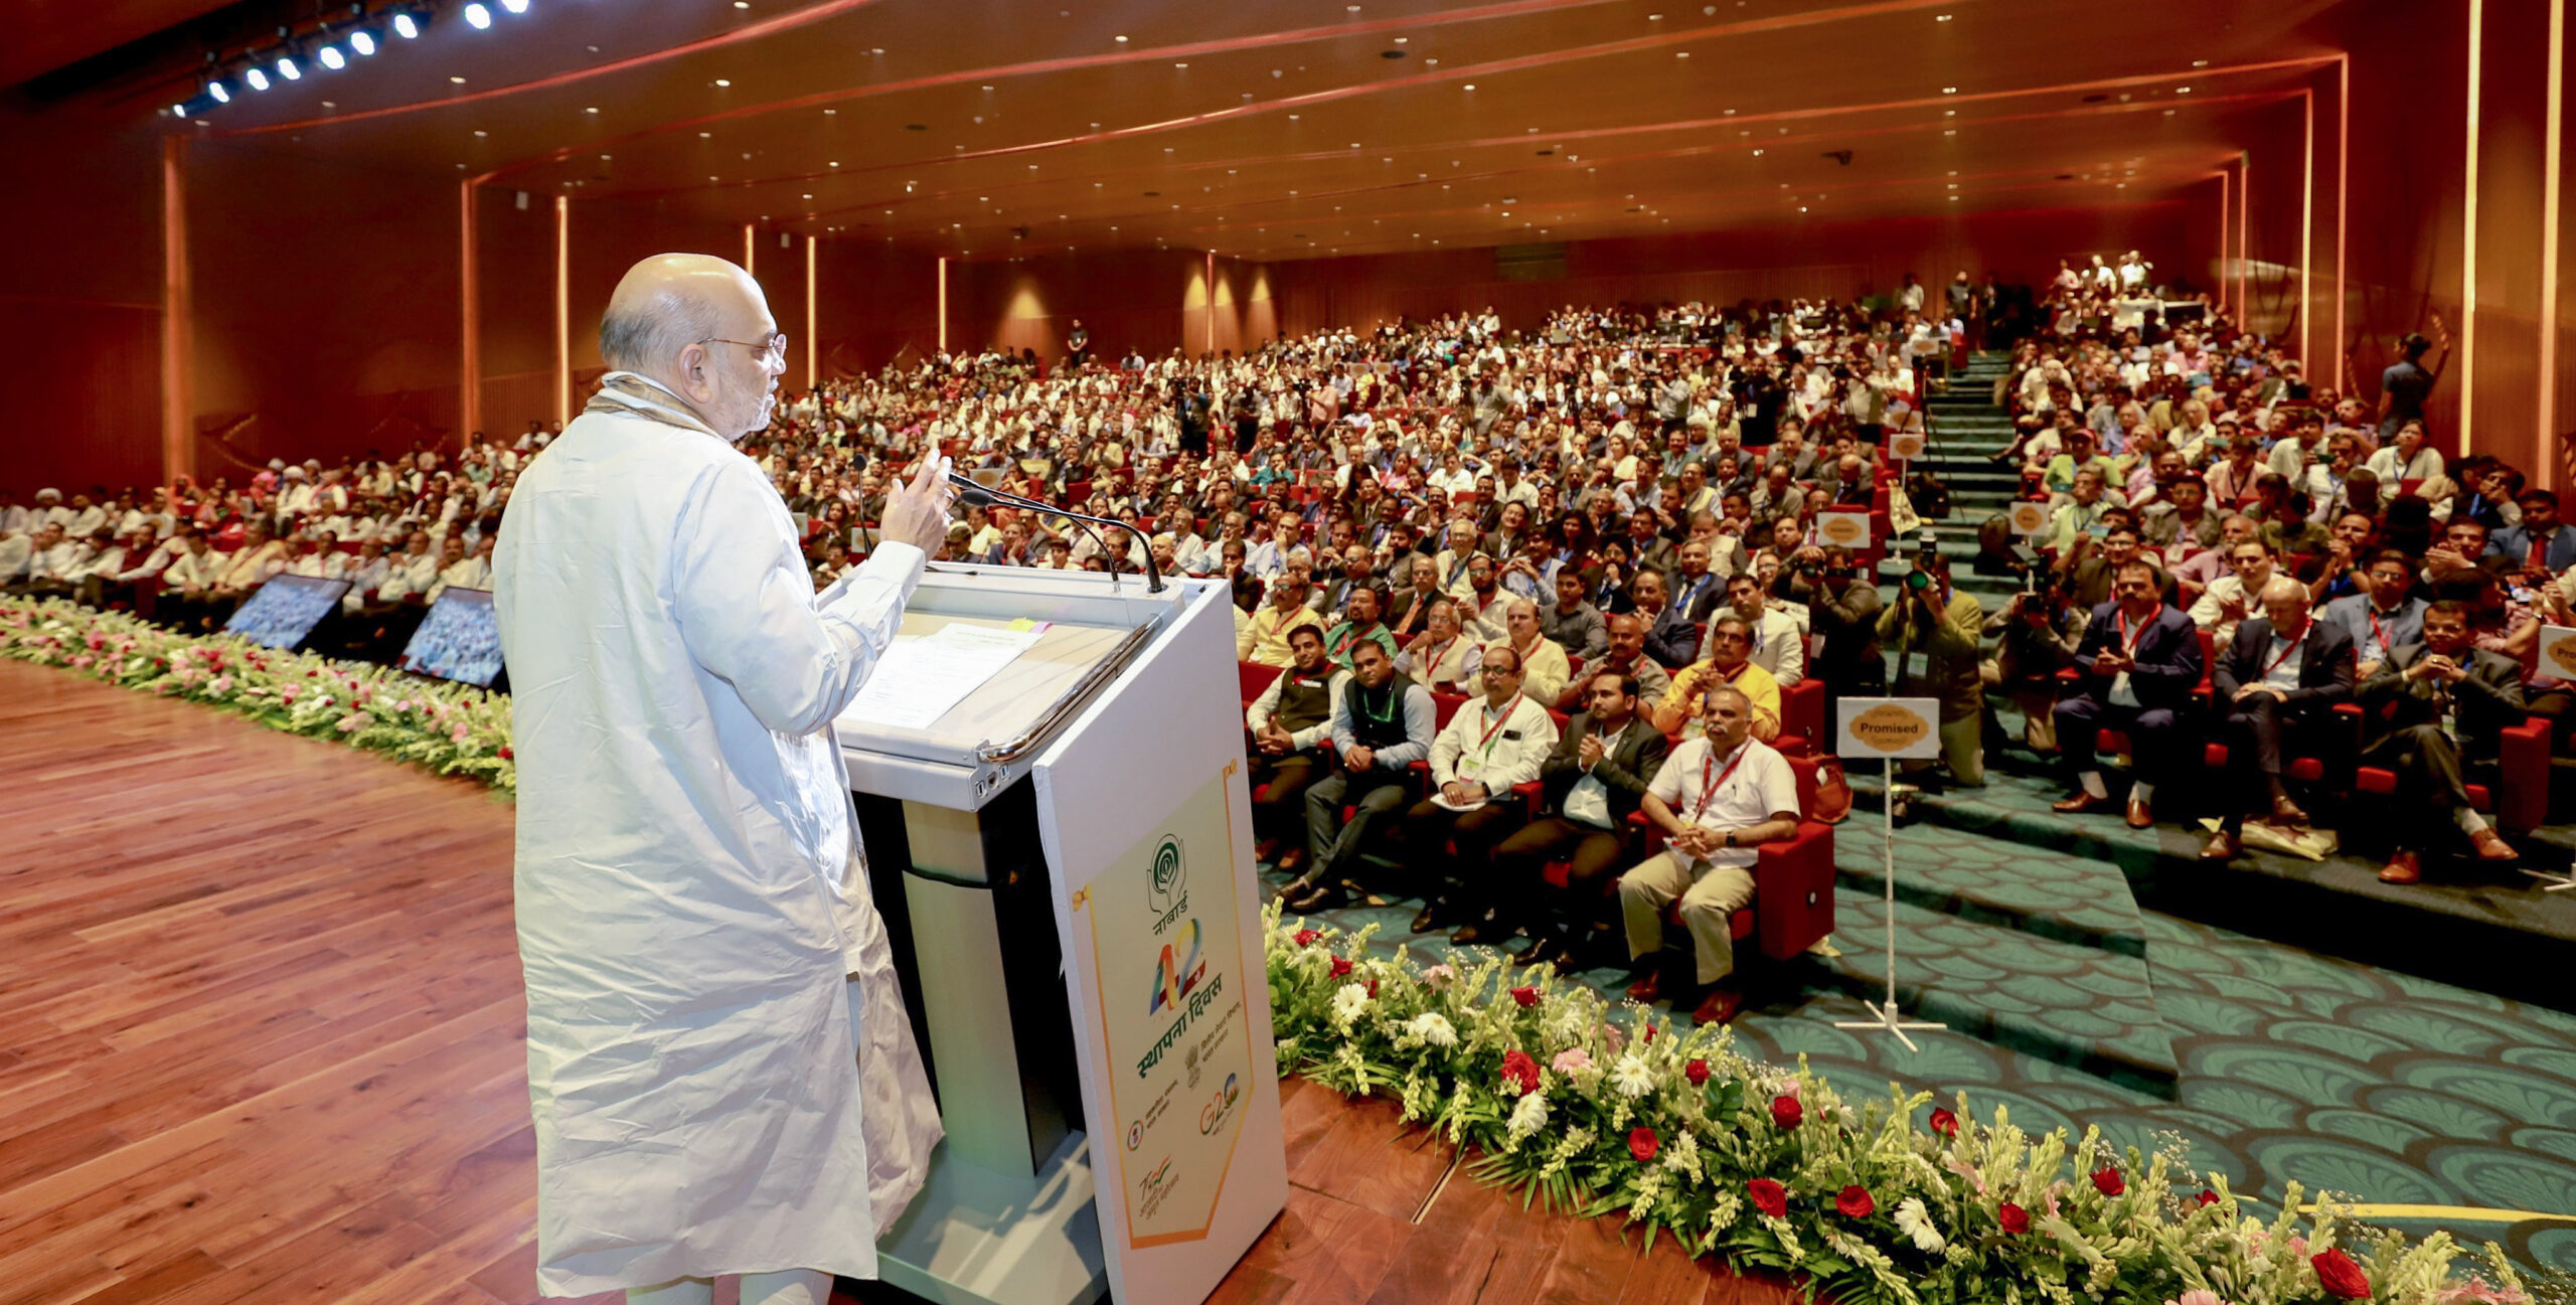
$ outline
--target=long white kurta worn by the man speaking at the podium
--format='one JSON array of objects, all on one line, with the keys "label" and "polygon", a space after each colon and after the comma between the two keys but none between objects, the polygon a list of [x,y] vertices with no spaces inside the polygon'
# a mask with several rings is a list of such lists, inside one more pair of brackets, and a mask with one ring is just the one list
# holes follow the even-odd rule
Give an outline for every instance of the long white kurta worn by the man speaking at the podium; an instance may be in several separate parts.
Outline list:
[{"label": "long white kurta worn by the man speaking at the podium", "polygon": [[520,476],[495,610],[541,1292],[873,1277],[920,1192],[940,1122],[829,723],[922,561],[817,595],[768,476],[644,417],[585,412]]}]

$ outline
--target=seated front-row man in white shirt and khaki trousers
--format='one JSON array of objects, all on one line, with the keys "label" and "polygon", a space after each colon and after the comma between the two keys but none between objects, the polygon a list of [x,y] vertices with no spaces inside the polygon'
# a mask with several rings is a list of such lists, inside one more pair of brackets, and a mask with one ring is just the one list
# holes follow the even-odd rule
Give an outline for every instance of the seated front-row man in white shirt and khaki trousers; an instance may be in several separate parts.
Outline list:
[{"label": "seated front-row man in white shirt and khaki trousers", "polygon": [[[1754,710],[1741,690],[1713,685],[1700,710],[1705,734],[1664,759],[1641,803],[1664,831],[1664,852],[1620,875],[1618,903],[1631,963],[1662,955],[1664,909],[1682,903],[1695,981],[1708,988],[1692,1014],[1700,1024],[1723,1024],[1744,1006],[1744,994],[1726,983],[1736,973],[1728,919],[1754,898],[1757,847],[1798,837],[1798,777],[1777,749],[1752,736]],[[1628,986],[1631,1001],[1662,996],[1659,965]]]}]

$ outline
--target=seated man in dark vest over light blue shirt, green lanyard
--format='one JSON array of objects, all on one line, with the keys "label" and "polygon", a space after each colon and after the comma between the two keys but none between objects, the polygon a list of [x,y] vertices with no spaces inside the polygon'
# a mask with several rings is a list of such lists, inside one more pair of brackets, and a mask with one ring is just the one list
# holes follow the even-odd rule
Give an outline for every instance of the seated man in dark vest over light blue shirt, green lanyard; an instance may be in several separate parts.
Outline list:
[{"label": "seated man in dark vest over light blue shirt, green lanyard", "polygon": [[[1280,888],[1291,911],[1342,901],[1342,883],[1360,867],[1360,847],[1412,793],[1406,767],[1432,754],[1440,708],[1430,690],[1396,674],[1396,659],[1360,641],[1342,690],[1332,695],[1332,749],[1342,770],[1306,790],[1306,875]],[[1342,806],[1355,806],[1342,824]]]}]

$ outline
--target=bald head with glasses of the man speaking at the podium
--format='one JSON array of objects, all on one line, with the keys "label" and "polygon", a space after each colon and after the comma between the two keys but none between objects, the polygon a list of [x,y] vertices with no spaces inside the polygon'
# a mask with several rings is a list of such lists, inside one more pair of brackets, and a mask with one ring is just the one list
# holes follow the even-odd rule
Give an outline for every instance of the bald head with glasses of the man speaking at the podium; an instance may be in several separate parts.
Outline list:
[{"label": "bald head with glasses of the man speaking at the podium", "polygon": [[711,255],[636,263],[600,317],[600,360],[680,396],[716,435],[739,440],[770,420],[786,360],[762,345],[778,335],[752,273]]}]

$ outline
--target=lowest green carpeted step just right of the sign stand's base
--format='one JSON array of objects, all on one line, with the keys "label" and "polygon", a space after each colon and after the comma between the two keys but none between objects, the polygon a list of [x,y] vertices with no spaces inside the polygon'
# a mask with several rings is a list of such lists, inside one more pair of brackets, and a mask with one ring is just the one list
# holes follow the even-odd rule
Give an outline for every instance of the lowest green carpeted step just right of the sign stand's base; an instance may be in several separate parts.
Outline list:
[{"label": "lowest green carpeted step just right of the sign stand's base", "polygon": [[[1824,963],[1819,981],[1880,1001],[1888,986],[1888,903],[1842,888],[1834,911],[1842,955]],[[2174,1040],[2156,1014],[2146,960],[2133,955],[1945,916],[1899,898],[1896,1004],[1904,1017],[1935,1019],[1950,1035],[2174,1097]],[[1922,1042],[1927,1035],[1911,1037]]]}]

